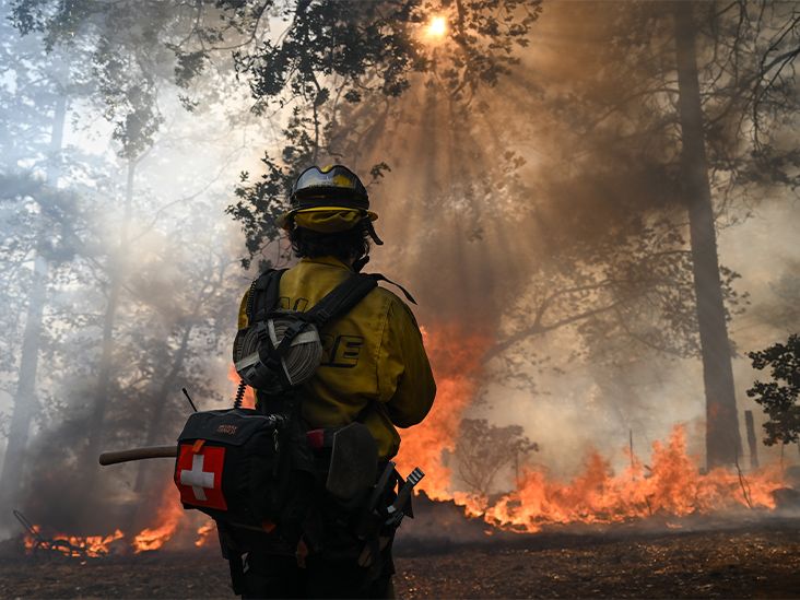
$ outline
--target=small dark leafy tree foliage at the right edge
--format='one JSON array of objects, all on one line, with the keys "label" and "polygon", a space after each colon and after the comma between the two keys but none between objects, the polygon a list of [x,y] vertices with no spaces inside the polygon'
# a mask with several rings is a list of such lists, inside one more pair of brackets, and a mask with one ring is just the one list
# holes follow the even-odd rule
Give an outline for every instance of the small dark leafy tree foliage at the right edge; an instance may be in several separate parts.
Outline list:
[{"label": "small dark leafy tree foliage at the right edge", "polygon": [[764,444],[792,444],[800,440],[800,336],[792,333],[786,343],[748,352],[753,368],[769,367],[772,381],[755,381],[748,396],[758,402],[769,420],[764,423]]}]

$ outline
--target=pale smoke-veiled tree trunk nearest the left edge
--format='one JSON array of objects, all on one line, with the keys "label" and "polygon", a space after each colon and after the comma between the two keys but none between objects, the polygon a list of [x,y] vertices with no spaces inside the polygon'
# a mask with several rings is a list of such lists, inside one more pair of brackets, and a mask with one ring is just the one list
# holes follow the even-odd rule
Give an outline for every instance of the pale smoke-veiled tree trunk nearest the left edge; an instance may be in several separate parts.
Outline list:
[{"label": "pale smoke-veiled tree trunk nearest the left edge", "polygon": [[[61,144],[67,120],[68,98],[60,95],[56,101],[50,134],[50,156],[47,166],[47,184],[57,187],[61,176]],[[25,471],[25,449],[31,433],[31,423],[37,412],[36,370],[38,368],[39,343],[42,339],[42,315],[44,313],[49,264],[45,258],[46,248],[39,244],[34,259],[34,272],[28,294],[25,332],[22,338],[19,380],[14,395],[9,443],[5,447],[2,474],[0,474],[0,506],[9,507],[17,502]]]}]

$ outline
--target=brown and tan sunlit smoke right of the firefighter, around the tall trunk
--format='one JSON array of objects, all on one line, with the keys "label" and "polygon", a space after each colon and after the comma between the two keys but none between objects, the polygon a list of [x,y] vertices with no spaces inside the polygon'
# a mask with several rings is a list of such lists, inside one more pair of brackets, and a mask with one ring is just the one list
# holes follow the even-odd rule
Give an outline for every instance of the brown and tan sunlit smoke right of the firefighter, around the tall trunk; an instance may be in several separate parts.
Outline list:
[{"label": "brown and tan sunlit smoke right of the firefighter, around the tall trunk", "polygon": [[[661,73],[662,85],[671,85],[671,25],[624,33],[628,17],[617,9],[548,5],[513,75],[477,93],[467,111],[435,86],[412,89],[360,163],[380,158],[392,168],[372,190],[387,245],[370,266],[410,287],[421,322],[467,323],[495,337],[473,374],[479,390],[464,416],[523,424],[541,445],[534,459],[558,473],[579,469],[589,448],[614,457],[620,469],[631,434],[646,455],[675,423],[689,425],[690,454],[701,461],[704,455],[703,375],[693,356],[654,351],[631,337],[589,351],[585,320],[491,352],[493,342],[536,318],[540,287],[608,272],[608,264],[631,259],[630,239],[659,220],[687,237],[677,96],[639,94]],[[720,168],[720,223],[739,223],[720,231],[720,261],[742,274],[732,290],[752,303],[730,323],[739,349],[737,397],[740,409],[754,410],[758,431],[761,412],[744,395],[753,373],[742,353],[798,327],[796,314],[781,314],[777,323],[761,316],[774,314],[765,305],[779,304],[776,290],[786,293],[786,278],[797,275],[797,211],[790,190],[766,186],[748,190],[760,202],[749,219],[752,203],[730,199],[731,175]],[[681,248],[685,242],[658,249]],[[569,281],[570,274],[577,277]],[[580,302],[602,305],[598,297]],[[586,311],[567,308],[556,317]],[[603,355],[612,349],[615,355]]]}]

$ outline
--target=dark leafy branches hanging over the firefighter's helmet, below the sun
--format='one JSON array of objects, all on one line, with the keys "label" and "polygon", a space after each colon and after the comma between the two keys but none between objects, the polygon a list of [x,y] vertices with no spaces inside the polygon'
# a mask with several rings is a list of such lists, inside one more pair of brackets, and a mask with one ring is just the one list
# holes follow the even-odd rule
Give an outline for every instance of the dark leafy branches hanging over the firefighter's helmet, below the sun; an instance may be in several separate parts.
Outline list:
[{"label": "dark leafy branches hanging over the firefighter's helmet, below the sun", "polygon": [[[514,50],[527,46],[541,10],[538,1],[457,0],[449,8],[455,42],[434,57],[420,32],[435,9],[413,0],[285,2],[279,15],[289,25],[278,42],[237,50],[237,72],[250,85],[254,110],[290,113],[283,148],[264,155],[266,173],[255,184],[249,173],[242,175],[239,200],[228,209],[245,230],[250,257],[277,237],[274,216],[301,167],[368,155],[358,146],[374,143],[391,105],[435,60],[447,64],[440,73],[448,93],[469,103],[481,85],[495,85],[519,61]],[[375,183],[387,169],[380,160],[365,170]]]}]

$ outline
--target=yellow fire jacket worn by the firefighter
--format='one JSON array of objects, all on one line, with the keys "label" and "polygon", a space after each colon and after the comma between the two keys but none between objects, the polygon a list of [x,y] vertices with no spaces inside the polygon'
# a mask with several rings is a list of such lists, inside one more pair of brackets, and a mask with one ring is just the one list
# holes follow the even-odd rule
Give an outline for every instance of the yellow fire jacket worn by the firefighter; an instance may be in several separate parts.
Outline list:
[{"label": "yellow fire jacket worn by the firefighter", "polygon": [[[308,310],[352,272],[331,257],[304,258],[281,278],[280,306]],[[247,294],[239,329],[247,327]],[[409,307],[383,287],[321,332],[322,363],[304,386],[303,417],[314,427],[340,427],[357,417],[391,458],[400,446],[395,426],[420,423],[436,396],[422,334]]]}]

